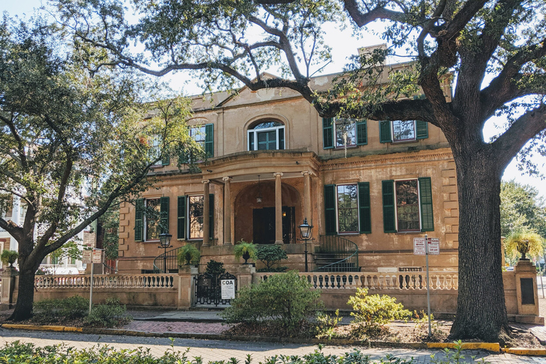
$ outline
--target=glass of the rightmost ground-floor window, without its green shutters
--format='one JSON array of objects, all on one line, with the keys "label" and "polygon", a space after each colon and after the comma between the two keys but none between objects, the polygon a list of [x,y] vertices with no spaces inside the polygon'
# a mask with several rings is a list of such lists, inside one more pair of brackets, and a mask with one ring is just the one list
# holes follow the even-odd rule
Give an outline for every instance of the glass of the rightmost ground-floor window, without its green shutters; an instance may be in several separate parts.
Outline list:
[{"label": "glass of the rightmost ground-floor window, without its green shutters", "polygon": [[420,230],[417,180],[396,182],[398,231]]}]

